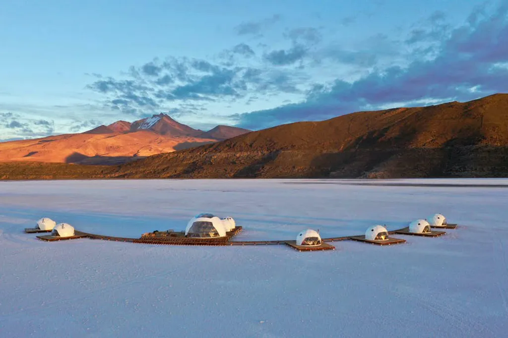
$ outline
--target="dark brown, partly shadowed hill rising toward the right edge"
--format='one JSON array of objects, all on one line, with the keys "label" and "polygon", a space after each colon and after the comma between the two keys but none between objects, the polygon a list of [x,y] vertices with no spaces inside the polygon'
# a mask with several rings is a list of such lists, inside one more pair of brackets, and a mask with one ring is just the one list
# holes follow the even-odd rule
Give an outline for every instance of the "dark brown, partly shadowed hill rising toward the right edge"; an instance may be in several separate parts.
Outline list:
[{"label": "dark brown, partly shadowed hill rising toward the right edge", "polygon": [[508,94],[297,122],[127,163],[117,177],[508,176]]}]

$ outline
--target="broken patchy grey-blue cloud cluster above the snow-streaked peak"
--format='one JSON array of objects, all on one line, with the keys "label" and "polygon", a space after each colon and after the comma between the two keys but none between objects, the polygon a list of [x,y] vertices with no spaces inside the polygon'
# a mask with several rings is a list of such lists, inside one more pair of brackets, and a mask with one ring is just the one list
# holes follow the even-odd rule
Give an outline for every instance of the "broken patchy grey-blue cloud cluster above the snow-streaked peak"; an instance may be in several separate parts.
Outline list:
[{"label": "broken patchy grey-blue cloud cluster above the snow-streaked peak", "polygon": [[[310,37],[309,34],[301,31],[297,35]],[[256,56],[252,48],[243,43],[235,45],[229,52],[242,57]],[[284,56],[291,58],[295,55],[278,55],[279,59],[276,59],[277,55],[269,57],[282,64],[288,62],[282,60]],[[260,95],[301,92],[295,81],[302,78],[298,72],[277,70],[264,66],[259,58],[257,61],[260,67],[240,65],[241,62],[225,65],[187,57],[154,58],[139,67],[129,67],[128,72],[123,73],[124,78],[103,77],[87,88],[104,96],[106,108],[137,117],[174,110],[189,103],[246,101],[252,92]]]}]

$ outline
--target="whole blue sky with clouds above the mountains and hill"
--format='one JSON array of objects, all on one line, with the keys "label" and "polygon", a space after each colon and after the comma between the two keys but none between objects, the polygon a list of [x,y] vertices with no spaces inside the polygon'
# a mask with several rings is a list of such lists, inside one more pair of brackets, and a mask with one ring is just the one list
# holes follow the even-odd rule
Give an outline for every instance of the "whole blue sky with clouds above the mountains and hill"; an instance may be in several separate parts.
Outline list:
[{"label": "whole blue sky with clouds above the mountains and hill", "polygon": [[508,0],[0,3],[0,140],[253,130],[508,92]]}]

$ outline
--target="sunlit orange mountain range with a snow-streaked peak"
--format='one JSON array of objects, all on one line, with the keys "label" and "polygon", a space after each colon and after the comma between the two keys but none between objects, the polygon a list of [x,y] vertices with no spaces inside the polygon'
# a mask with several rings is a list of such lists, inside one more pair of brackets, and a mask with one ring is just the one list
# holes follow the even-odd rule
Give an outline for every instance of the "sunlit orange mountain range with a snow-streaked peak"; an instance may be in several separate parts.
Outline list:
[{"label": "sunlit orange mountain range with a snow-streaked peak", "polygon": [[120,164],[249,131],[225,125],[203,131],[159,114],[132,123],[116,121],[82,133],[0,143],[0,161]]}]

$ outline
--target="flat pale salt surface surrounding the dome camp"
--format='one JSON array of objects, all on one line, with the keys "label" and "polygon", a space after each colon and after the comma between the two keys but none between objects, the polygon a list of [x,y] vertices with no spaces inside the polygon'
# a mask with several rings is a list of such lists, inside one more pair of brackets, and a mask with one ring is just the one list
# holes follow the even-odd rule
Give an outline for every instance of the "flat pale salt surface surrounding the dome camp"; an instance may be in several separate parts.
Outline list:
[{"label": "flat pale salt surface surrounding the dome camp", "polygon": [[[348,185],[372,182],[431,185]],[[0,182],[0,337],[506,336],[507,205],[508,180]],[[324,252],[22,232],[51,217],[139,237],[183,230],[201,212],[234,217],[236,240],[292,240],[309,227],[355,235],[433,213],[460,228]]]}]

